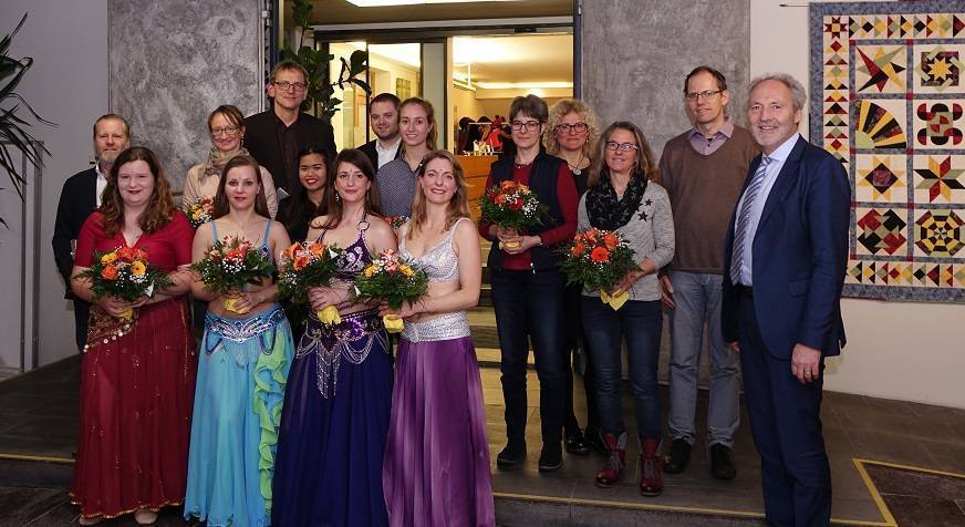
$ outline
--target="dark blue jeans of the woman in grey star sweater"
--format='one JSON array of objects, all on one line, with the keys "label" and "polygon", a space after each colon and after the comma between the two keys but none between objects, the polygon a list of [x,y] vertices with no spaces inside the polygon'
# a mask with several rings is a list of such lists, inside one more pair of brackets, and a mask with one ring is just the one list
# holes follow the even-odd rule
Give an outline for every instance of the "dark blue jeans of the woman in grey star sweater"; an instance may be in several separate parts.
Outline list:
[{"label": "dark blue jeans of the woman in grey star sweater", "polygon": [[596,376],[601,431],[615,435],[626,432],[620,403],[620,344],[625,337],[639,435],[660,438],[660,386],[656,375],[663,321],[660,300],[629,300],[614,311],[596,297],[583,297],[582,309],[583,328]]}]

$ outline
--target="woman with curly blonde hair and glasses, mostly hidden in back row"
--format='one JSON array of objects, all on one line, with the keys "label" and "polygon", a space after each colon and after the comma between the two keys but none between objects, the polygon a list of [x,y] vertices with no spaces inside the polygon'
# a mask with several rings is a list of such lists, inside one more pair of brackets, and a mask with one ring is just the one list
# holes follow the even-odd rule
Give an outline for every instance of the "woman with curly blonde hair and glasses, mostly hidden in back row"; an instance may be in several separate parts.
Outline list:
[{"label": "woman with curly blonde hair and glasses, mostly hidden in back row", "polygon": [[[590,163],[596,143],[600,141],[600,124],[596,115],[587,103],[575,99],[563,99],[550,108],[547,130],[543,131],[543,145],[547,153],[554,155],[570,167],[577,192],[580,196],[587,192],[587,178],[590,175]],[[596,414],[596,389],[593,380],[593,363],[585,347],[583,324],[580,317],[579,285],[567,287],[565,310],[565,348],[570,358],[567,359],[567,411],[564,413],[563,432],[565,448],[570,454],[589,455],[590,447],[601,454],[606,454],[606,447],[600,436],[600,422]],[[573,412],[573,371],[579,370],[579,355],[584,358],[583,390],[587,395],[587,433],[580,430],[580,422]],[[569,366],[572,361],[572,369]]]}]

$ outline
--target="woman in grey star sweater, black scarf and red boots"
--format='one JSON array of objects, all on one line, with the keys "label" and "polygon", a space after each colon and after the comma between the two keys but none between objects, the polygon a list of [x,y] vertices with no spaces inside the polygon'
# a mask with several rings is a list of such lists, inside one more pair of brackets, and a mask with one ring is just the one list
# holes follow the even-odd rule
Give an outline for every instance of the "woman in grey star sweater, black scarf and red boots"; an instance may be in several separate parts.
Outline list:
[{"label": "woman in grey star sweater, black scarf and red boots", "polygon": [[626,273],[611,296],[630,298],[620,309],[583,291],[582,317],[593,372],[600,428],[609,452],[596,486],[612,487],[625,465],[626,426],[621,407],[621,344],[626,340],[630,386],[640,440],[640,493],[663,490],[657,362],[663,323],[657,270],[674,256],[674,220],[666,190],[656,182],[656,159],[643,132],[619,121],[603,131],[590,168],[589,189],[580,199],[579,229],[615,230],[633,249],[639,267]]}]

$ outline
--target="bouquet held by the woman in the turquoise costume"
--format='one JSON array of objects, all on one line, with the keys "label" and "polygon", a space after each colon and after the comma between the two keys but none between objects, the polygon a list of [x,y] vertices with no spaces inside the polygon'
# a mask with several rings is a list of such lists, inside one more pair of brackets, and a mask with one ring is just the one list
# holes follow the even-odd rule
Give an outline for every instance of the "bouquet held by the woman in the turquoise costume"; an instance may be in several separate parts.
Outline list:
[{"label": "bouquet held by the woman in the turquoise costume", "polygon": [[[191,265],[191,270],[201,277],[205,289],[226,294],[271,277],[274,266],[250,241],[237,236],[226,236],[222,240],[215,240],[205,258]],[[225,299],[225,309],[239,314],[246,312],[235,309],[234,298]]]}]

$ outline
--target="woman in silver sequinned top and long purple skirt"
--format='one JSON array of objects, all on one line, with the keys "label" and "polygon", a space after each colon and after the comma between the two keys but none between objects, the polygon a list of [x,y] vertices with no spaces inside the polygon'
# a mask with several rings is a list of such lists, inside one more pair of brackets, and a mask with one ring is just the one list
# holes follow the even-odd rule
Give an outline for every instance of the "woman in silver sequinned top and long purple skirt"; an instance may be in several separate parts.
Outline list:
[{"label": "woman in silver sequinned top and long purple skirt", "polygon": [[479,238],[456,158],[430,152],[417,175],[398,250],[429,288],[395,313],[405,328],[382,475],[390,525],[492,526],[486,411],[465,311],[479,301]]}]

